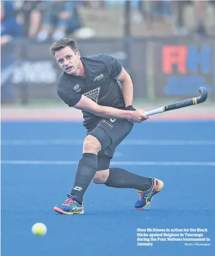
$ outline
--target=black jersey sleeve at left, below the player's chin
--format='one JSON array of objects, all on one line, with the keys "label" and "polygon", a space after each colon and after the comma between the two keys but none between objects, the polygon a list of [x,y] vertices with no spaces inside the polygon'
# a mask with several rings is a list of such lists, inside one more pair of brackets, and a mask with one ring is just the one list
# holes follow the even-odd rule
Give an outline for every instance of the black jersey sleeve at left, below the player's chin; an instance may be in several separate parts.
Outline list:
[{"label": "black jersey sleeve at left, below the player's chin", "polygon": [[69,106],[73,107],[81,99],[81,94],[76,93],[73,88],[69,86],[70,81],[61,74],[57,81],[57,94]]}]

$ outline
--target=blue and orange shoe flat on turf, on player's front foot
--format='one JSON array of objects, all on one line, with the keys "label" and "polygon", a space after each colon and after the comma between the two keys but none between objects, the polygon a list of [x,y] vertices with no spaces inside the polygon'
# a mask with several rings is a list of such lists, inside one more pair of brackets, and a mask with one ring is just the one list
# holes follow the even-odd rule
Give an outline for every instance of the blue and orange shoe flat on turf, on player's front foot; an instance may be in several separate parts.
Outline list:
[{"label": "blue and orange shoe flat on turf, on player's front foot", "polygon": [[82,205],[80,205],[76,200],[76,196],[68,194],[65,202],[62,205],[56,205],[54,211],[61,214],[83,214],[84,204],[82,202]]}]

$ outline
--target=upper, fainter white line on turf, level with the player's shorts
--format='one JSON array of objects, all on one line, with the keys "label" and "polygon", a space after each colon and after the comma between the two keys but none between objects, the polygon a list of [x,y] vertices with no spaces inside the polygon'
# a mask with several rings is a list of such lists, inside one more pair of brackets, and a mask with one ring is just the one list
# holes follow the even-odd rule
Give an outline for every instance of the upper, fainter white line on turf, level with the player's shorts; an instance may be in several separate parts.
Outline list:
[{"label": "upper, fainter white line on turf, level with the player's shorts", "polygon": [[[1,145],[82,145],[84,140],[2,140]],[[215,145],[215,140],[125,140],[120,145]]]}]

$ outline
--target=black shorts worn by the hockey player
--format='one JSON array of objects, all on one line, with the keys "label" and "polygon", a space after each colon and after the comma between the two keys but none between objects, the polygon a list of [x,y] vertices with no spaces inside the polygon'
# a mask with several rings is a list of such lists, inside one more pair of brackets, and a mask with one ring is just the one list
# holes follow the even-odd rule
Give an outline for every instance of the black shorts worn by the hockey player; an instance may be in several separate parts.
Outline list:
[{"label": "black shorts worn by the hockey player", "polygon": [[102,118],[97,126],[88,134],[94,136],[101,143],[99,156],[113,158],[115,148],[131,132],[133,124],[126,119]]}]

